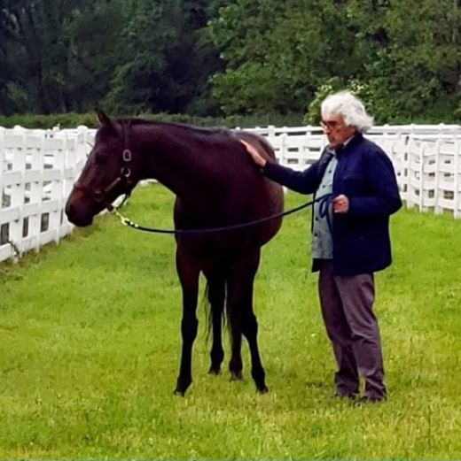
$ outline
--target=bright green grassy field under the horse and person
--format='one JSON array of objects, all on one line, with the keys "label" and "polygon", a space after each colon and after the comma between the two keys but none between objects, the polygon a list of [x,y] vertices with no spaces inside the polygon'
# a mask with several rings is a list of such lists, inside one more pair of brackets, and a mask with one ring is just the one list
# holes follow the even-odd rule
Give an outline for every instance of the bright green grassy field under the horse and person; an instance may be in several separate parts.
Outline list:
[{"label": "bright green grassy field under the horse and person", "polygon": [[[172,199],[138,188],[124,211],[171,227]],[[289,194],[287,207],[306,200]],[[307,211],[285,219],[256,281],[264,396],[246,344],[243,381],[207,374],[202,308],[194,382],[173,396],[171,236],[105,216],[0,266],[0,458],[460,459],[461,221],[400,211],[392,232],[395,264],[377,275],[376,303],[389,400],[360,408],[332,397]]]}]

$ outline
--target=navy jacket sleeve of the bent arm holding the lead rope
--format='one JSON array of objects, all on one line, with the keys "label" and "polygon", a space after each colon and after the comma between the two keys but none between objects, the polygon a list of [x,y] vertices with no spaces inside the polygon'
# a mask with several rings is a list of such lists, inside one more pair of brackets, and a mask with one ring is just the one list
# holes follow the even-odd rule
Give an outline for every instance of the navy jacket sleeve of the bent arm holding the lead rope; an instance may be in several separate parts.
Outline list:
[{"label": "navy jacket sleeve of the bent arm holding the lead rope", "polygon": [[389,216],[402,206],[392,162],[382,150],[371,150],[365,157],[365,167],[370,180],[370,196],[349,197],[348,216]]}]

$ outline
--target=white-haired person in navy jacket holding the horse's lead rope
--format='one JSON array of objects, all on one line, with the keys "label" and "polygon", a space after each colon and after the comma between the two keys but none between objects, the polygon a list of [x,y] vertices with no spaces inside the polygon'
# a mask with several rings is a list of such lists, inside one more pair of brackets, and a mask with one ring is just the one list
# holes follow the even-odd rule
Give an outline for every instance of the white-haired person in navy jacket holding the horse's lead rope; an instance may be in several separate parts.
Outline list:
[{"label": "white-haired person in navy jacket holding the horse's lead rope", "polygon": [[[338,371],[335,396],[360,403],[386,399],[378,320],[373,312],[373,273],[391,264],[389,216],[402,202],[392,163],[363,137],[372,118],[348,92],[328,96],[321,108],[329,144],[303,172],[266,161],[249,144],[262,174],[302,194],[332,196],[327,212],[312,213],[312,270],[324,326]],[[359,397],[359,376],[365,381]]]}]

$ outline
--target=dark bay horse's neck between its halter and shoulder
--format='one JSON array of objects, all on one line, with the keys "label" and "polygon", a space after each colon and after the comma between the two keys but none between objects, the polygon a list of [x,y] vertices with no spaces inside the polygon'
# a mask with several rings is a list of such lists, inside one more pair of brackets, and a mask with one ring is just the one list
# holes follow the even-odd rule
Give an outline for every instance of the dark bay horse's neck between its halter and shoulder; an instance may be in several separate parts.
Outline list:
[{"label": "dark bay horse's neck between its halter and shoulder", "polygon": [[210,152],[200,149],[199,142],[179,133],[181,128],[141,126],[139,150],[143,156],[142,179],[156,179],[176,196],[198,193],[198,184],[207,183],[210,171]]}]

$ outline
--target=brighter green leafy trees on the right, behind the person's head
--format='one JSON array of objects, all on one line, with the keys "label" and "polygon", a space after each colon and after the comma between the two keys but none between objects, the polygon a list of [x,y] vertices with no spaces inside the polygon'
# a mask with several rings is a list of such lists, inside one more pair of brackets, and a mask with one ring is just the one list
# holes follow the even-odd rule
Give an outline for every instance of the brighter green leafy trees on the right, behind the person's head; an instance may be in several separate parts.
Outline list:
[{"label": "brighter green leafy trees on the right, behind the person's head", "polygon": [[210,25],[215,96],[226,113],[313,103],[313,120],[325,90],[351,88],[380,122],[453,119],[460,19],[457,0],[238,0]]}]

